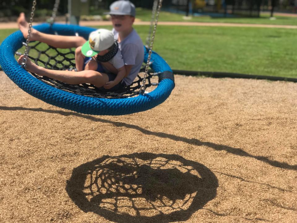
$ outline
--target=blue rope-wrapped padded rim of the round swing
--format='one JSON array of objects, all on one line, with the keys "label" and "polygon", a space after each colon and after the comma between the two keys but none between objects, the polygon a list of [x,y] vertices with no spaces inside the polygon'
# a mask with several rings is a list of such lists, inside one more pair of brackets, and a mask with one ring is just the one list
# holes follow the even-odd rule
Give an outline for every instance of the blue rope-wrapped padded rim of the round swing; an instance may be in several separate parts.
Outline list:
[{"label": "blue rope-wrapped padded rim of the round swing", "polygon": [[[57,32],[59,35],[68,36],[73,36],[77,32],[85,39],[88,39],[89,33],[95,30],[94,28],[65,24],[40,24],[34,28],[43,33],[54,34]],[[133,98],[93,98],[69,93],[45,84],[21,68],[14,55],[15,51],[22,47],[22,42],[25,42],[25,39],[20,31],[12,33],[2,42],[0,65],[6,75],[22,90],[54,106],[90,115],[125,115],[156,107],[169,97],[174,88],[173,80],[164,79],[149,94],[140,94]],[[144,62],[147,58],[148,53],[144,50]],[[152,53],[151,61],[153,61],[151,68],[155,72],[172,72],[169,65],[157,53]]]}]

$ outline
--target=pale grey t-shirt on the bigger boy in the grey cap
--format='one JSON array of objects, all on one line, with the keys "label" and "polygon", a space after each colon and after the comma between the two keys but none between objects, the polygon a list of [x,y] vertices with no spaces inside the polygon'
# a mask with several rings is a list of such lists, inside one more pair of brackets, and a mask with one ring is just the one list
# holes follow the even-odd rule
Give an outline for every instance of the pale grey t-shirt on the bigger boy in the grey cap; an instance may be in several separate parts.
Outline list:
[{"label": "pale grey t-shirt on the bigger boy in the grey cap", "polygon": [[[114,39],[118,40],[118,32],[113,29]],[[144,59],[144,48],[140,36],[133,31],[121,42],[118,43],[121,49],[125,65],[133,65],[130,73],[124,78],[126,85],[130,85],[140,71]]]}]

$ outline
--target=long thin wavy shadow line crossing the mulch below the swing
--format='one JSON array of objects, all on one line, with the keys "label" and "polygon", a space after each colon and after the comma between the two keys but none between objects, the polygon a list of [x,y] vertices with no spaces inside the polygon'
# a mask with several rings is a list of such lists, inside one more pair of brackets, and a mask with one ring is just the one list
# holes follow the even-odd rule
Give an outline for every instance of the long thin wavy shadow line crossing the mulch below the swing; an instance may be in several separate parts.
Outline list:
[{"label": "long thin wavy shadow line crossing the mulch below the swing", "polygon": [[109,123],[118,127],[126,127],[129,129],[136,129],[146,135],[154,135],[160,138],[169,138],[172,139],[174,141],[181,141],[181,142],[185,142],[191,145],[196,145],[196,146],[208,146],[214,150],[217,151],[222,151],[225,150],[229,153],[232,153],[234,155],[239,155],[239,156],[246,156],[246,157],[251,157],[254,158],[256,160],[259,161],[263,161],[273,167],[278,167],[278,168],[283,168],[283,169],[289,169],[289,170],[297,170],[297,165],[290,165],[287,164],[285,162],[279,162],[276,160],[270,160],[269,158],[265,157],[265,156],[255,156],[255,155],[251,155],[249,153],[247,153],[246,151],[244,151],[241,148],[234,148],[231,146],[226,146],[226,145],[222,145],[222,144],[216,144],[213,142],[203,142],[200,141],[198,139],[195,138],[185,138],[185,137],[180,137],[180,136],[176,136],[173,134],[168,134],[168,133],[162,133],[162,132],[153,132],[153,131],[149,131],[147,129],[141,128],[137,125],[131,125],[131,124],[126,124],[123,122],[115,122],[115,121],[110,121],[110,120],[104,120],[101,118],[97,118],[97,117],[93,117],[90,115],[84,115],[84,114],[80,114],[80,113],[76,113],[76,112],[68,112],[68,111],[55,111],[55,110],[49,110],[49,109],[42,109],[42,108],[25,108],[25,107],[5,107],[5,106],[0,106],[0,110],[5,110],[5,111],[34,111],[34,112],[47,112],[47,113],[53,113],[53,114],[61,114],[64,116],[77,116],[77,117],[81,117],[81,118],[85,118],[85,119],[89,119],[95,122],[102,122],[102,123]]}]

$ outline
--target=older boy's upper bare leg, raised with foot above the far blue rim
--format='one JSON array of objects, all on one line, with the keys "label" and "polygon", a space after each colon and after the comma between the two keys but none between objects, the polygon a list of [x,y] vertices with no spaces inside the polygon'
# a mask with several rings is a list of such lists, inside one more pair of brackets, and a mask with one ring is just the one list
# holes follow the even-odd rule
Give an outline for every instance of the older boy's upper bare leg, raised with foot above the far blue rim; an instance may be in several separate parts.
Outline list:
[{"label": "older boy's upper bare leg, raised with foot above the far blue rim", "polygon": [[[22,12],[19,14],[17,20],[20,31],[23,33],[24,38],[27,39],[29,24],[25,19],[25,14]],[[60,36],[41,33],[34,28],[31,28],[30,41],[40,41],[47,45],[54,46],[56,48],[72,48],[84,45],[86,40],[83,37],[77,36]]]}]

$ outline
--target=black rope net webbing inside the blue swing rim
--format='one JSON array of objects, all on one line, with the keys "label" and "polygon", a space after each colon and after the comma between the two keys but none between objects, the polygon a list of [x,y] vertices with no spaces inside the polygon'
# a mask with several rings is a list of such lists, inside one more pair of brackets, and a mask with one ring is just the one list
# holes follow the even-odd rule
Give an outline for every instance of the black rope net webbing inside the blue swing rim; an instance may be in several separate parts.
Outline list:
[{"label": "black rope net webbing inside the blue swing rim", "polygon": [[[29,45],[29,58],[32,59],[38,66],[44,66],[52,70],[68,70],[75,68],[75,49],[58,49],[48,46],[45,43],[34,42]],[[145,65],[144,65],[145,66]],[[144,72],[144,66],[141,68],[140,73]],[[140,86],[142,84],[142,77],[140,74],[134,82],[123,89],[110,92],[95,87],[92,84],[70,85],[62,81],[58,81],[49,77],[42,77],[32,73],[34,77],[51,85],[55,88],[72,92],[74,94],[91,96],[96,98],[129,98],[138,95]],[[151,73],[148,74],[146,80],[146,87],[152,86]]]}]

